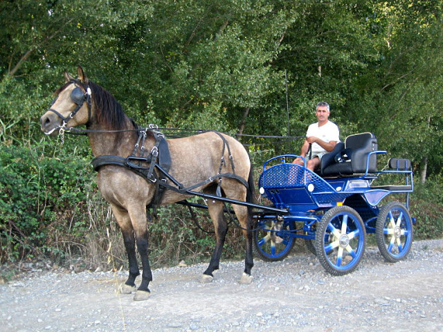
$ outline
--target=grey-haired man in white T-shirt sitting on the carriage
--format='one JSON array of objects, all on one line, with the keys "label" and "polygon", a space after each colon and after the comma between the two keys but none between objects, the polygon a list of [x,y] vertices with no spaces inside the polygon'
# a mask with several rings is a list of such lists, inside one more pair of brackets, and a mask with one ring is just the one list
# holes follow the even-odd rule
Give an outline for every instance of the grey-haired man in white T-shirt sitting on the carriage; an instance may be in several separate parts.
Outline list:
[{"label": "grey-haired man in white T-shirt sitting on the carriage", "polygon": [[[311,124],[306,132],[305,142],[302,145],[300,156],[307,159],[307,168],[314,171],[320,167],[321,158],[332,151],[340,141],[340,131],[334,122],[329,118],[329,104],[327,102],[319,102],[316,107],[316,117],[318,122]],[[311,145],[311,156],[307,156]],[[303,165],[302,158],[293,160],[294,164]]]}]

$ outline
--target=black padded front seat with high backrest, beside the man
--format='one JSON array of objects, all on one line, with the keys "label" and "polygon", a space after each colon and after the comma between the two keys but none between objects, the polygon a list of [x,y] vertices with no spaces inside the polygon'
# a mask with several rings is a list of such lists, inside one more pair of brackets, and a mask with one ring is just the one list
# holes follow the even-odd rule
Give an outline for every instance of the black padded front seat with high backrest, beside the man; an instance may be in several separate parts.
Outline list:
[{"label": "black padded front seat with high backrest, beside the man", "polygon": [[369,158],[368,173],[377,172],[377,138],[373,133],[356,133],[338,142],[334,150],[321,158],[321,176],[346,176],[365,174]]}]

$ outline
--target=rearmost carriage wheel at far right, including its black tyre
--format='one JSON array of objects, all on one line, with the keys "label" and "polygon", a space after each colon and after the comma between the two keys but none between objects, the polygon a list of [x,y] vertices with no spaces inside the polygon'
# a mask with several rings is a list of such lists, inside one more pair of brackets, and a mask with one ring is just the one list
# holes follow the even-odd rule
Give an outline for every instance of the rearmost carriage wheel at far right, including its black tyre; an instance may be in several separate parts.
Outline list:
[{"label": "rearmost carriage wheel at far right, including its black tyre", "polygon": [[377,217],[375,236],[386,261],[404,259],[413,243],[413,222],[406,207],[398,202],[384,205]]}]

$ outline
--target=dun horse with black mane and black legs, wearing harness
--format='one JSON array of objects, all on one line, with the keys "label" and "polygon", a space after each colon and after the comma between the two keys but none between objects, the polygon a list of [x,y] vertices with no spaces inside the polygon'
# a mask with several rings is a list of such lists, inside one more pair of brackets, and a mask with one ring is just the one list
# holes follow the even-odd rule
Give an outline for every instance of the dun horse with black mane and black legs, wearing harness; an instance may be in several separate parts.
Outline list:
[{"label": "dun horse with black mane and black legs, wearing harness", "polygon": [[[183,201],[190,196],[183,190],[174,190],[174,183],[179,183],[178,187],[192,187],[195,192],[214,197],[223,196],[252,202],[252,167],[248,152],[235,138],[215,131],[185,138],[165,139],[168,147],[165,154],[170,154],[170,165],[169,172],[166,172],[168,178],[161,178],[159,169],[153,171],[151,167],[157,160],[155,152],[162,153],[158,149],[154,131],[138,127],[109,91],[89,80],[82,67],[78,67],[77,78],[65,71],[64,79],[65,84],[55,91],[56,98],[51,109],[40,118],[41,129],[47,135],[55,135],[57,131],[64,133],[64,130],[72,130],[85,124],[87,129],[84,131],[89,138],[93,156],[112,157],[111,162],[105,161],[96,170],[98,189],[111,205],[123,234],[129,261],[129,276],[125,284],[120,285],[119,291],[124,294],[135,292],[135,301],[148,299],[152,271],[148,258],[147,207],[156,197],[158,205],[166,205]],[[137,148],[141,142],[144,149]],[[142,158],[146,151],[151,151],[151,160]],[[128,156],[132,156],[132,159]],[[113,160],[120,161],[114,163]],[[127,163],[121,160],[126,160]],[[128,160],[146,167],[131,169],[127,167]],[[140,160],[143,163],[138,163]],[[143,169],[145,175],[149,169],[150,176],[143,176]],[[163,188],[161,195],[158,194],[159,183]],[[200,280],[204,283],[212,282],[213,272],[219,268],[221,250],[228,230],[224,203],[217,199],[208,199],[207,204],[215,228],[216,244],[208,268]],[[234,204],[233,211],[241,225],[245,241],[244,272],[239,283],[251,284],[253,238],[250,230],[253,219],[247,206]],[[140,270],[136,248],[142,263],[141,284],[138,288],[135,282]]]}]

